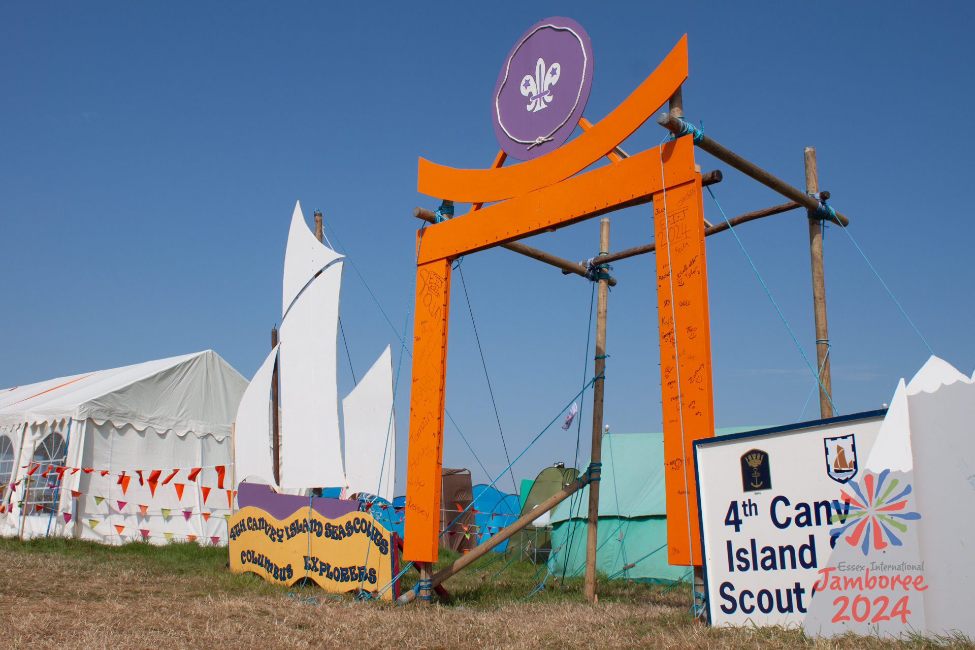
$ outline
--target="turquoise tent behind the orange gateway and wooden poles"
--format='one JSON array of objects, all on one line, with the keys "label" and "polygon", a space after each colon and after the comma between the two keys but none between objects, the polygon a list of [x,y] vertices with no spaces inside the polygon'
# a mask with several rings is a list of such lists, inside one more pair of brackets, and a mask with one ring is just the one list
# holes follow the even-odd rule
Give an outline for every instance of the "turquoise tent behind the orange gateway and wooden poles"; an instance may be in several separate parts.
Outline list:
[{"label": "turquoise tent behind the orange gateway and wooden poles", "polygon": [[[716,436],[760,427],[718,429]],[[585,466],[589,465],[586,461]],[[689,567],[667,563],[664,435],[604,434],[596,570],[619,579],[670,582],[689,579]],[[580,576],[586,563],[589,487],[563,501],[552,515],[549,568]],[[624,566],[636,562],[627,570]]]}]

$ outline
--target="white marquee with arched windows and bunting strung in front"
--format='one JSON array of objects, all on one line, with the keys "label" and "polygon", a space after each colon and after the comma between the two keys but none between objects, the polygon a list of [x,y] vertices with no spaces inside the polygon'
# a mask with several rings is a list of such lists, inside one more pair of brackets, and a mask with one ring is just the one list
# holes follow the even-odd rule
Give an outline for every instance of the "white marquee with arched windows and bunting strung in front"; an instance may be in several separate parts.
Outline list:
[{"label": "white marquee with arched windows and bunting strung in front", "polygon": [[232,495],[217,468],[231,487],[247,386],[208,350],[0,391],[0,534],[225,540]]}]

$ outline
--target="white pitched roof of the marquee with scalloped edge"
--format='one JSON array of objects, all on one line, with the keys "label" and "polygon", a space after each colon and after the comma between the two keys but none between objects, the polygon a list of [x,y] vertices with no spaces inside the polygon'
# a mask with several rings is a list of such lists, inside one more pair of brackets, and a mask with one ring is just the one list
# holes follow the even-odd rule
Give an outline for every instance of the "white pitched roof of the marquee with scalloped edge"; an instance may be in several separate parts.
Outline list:
[{"label": "white pitched roof of the marquee with scalloped edge", "polygon": [[68,418],[230,435],[248,381],[212,350],[0,390],[0,430]]}]

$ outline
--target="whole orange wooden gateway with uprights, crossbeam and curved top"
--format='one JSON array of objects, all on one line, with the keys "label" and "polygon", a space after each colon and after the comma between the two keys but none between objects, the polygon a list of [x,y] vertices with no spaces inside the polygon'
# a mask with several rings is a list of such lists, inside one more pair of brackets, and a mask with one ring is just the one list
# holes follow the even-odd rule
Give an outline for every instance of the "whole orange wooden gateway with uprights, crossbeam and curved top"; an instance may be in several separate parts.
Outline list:
[{"label": "whole orange wooden gateway with uprights, crossbeam and curved top", "polygon": [[[487,170],[453,170],[420,159],[420,192],[475,205],[467,214],[417,231],[405,559],[437,559],[450,261],[652,197],[664,445],[670,468],[669,556],[671,563],[701,563],[690,442],[714,435],[714,417],[701,175],[695,171],[693,143],[681,137],[573,175],[639,128],[686,76],[684,36],[633,95],[560,149],[509,167],[499,167],[504,160],[499,156]],[[491,201],[500,203],[480,209]],[[673,277],[671,269],[676,270]]]}]

